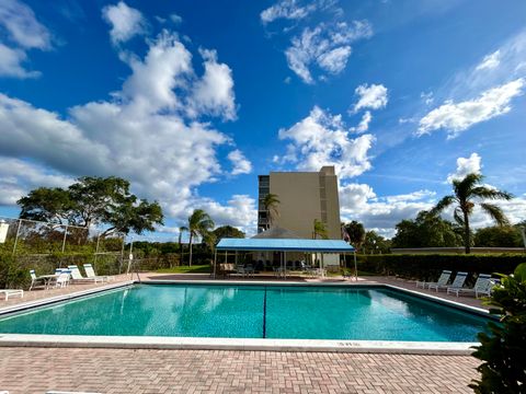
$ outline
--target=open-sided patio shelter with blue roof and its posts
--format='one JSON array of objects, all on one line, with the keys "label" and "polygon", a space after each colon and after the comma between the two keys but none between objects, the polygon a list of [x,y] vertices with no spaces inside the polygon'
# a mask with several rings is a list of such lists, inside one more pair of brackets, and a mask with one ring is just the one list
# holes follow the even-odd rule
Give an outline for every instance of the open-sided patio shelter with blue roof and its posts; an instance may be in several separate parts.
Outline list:
[{"label": "open-sided patio shelter with blue roof and its posts", "polygon": [[302,239],[222,239],[216,246],[214,254],[214,278],[217,273],[218,253],[225,253],[225,262],[228,260],[228,252],[233,252],[236,256],[236,265],[238,264],[239,252],[279,252],[281,271],[286,277],[287,270],[287,253],[311,253],[320,254],[320,268],[323,273],[323,255],[340,254],[354,255],[354,273],[357,280],[356,254],[352,245],[342,240],[302,240]]}]

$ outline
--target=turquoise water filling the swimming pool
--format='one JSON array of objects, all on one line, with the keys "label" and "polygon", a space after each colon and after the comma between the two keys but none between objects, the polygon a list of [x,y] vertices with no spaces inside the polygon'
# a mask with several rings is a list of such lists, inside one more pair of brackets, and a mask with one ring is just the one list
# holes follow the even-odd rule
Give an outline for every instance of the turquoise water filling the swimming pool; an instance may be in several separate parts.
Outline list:
[{"label": "turquoise water filling the swimming pool", "polygon": [[0,318],[0,333],[476,341],[487,323],[381,287],[137,285]]}]

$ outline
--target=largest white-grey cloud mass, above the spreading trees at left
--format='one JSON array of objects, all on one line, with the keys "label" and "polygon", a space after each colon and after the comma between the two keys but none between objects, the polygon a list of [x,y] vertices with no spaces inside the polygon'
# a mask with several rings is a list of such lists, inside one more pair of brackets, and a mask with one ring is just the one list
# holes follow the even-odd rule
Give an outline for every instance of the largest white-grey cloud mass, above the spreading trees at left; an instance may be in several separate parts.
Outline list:
[{"label": "largest white-grey cloud mass, above the spreading trees at left", "polygon": [[[125,60],[132,74],[114,100],[69,108],[67,118],[0,94],[0,162],[16,170],[10,175],[11,204],[21,190],[53,179],[31,181],[26,169],[13,166],[5,158],[28,158],[23,161],[27,165],[65,178],[125,177],[134,193],[159,200],[169,216],[180,220],[203,199],[196,187],[224,174],[216,150],[231,139],[199,121],[198,114],[188,118],[186,113],[201,79],[184,45],[163,32],[149,40],[144,59],[129,56]],[[208,114],[222,111],[220,102],[206,107]]]}]

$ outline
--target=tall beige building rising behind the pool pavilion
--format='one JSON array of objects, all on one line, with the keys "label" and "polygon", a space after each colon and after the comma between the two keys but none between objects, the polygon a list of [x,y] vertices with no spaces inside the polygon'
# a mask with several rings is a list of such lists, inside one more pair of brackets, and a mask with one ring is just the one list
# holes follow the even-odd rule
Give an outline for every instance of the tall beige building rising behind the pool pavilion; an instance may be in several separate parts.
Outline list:
[{"label": "tall beige building rising behind the pool pavilion", "polygon": [[342,239],[334,166],[323,166],[320,172],[271,172],[270,175],[260,175],[259,233],[268,228],[268,212],[263,205],[268,193],[277,195],[279,199],[279,216],[274,218],[273,225],[311,239],[313,222],[318,219],[325,224],[329,239]]}]

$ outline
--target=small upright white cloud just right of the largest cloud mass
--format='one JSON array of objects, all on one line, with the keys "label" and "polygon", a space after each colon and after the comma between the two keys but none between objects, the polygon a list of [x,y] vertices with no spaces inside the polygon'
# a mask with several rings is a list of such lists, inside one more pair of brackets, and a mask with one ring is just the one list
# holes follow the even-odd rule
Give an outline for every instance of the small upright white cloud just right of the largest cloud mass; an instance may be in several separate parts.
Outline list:
[{"label": "small upright white cloud just right of the largest cloud mass", "polygon": [[205,60],[205,74],[194,85],[192,112],[222,116],[226,120],[236,119],[232,70],[217,62],[215,50],[202,49],[199,53]]}]

